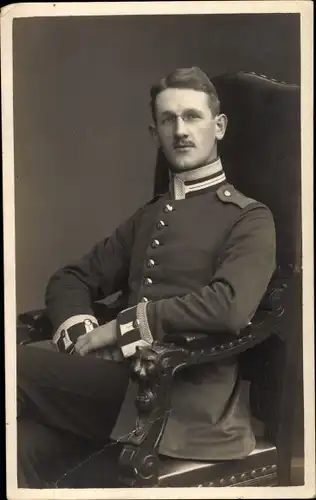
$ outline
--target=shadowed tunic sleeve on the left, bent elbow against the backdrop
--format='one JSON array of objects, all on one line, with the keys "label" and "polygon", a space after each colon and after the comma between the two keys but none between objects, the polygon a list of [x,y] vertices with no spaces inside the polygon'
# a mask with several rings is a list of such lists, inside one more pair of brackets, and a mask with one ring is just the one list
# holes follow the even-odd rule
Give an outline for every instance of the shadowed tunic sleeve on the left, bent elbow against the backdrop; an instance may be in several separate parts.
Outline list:
[{"label": "shadowed tunic sleeve on the left, bent elbow against the backdrop", "polygon": [[[131,248],[138,210],[109,237],[98,242],[77,262],[64,266],[50,278],[46,288],[46,307],[54,331],[72,328],[87,320],[88,330],[98,326],[92,303],[119,291],[128,279]],[[84,333],[87,329],[83,329]]]}]

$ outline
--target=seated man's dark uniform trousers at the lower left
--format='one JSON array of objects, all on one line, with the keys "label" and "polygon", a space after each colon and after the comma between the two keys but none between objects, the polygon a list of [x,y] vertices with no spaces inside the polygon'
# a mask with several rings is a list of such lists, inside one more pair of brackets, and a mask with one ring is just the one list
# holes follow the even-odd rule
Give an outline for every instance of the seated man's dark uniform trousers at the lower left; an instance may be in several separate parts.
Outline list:
[{"label": "seated man's dark uniform trousers at the lower left", "polygon": [[122,445],[109,436],[130,377],[126,360],[17,346],[19,488],[117,487]]}]

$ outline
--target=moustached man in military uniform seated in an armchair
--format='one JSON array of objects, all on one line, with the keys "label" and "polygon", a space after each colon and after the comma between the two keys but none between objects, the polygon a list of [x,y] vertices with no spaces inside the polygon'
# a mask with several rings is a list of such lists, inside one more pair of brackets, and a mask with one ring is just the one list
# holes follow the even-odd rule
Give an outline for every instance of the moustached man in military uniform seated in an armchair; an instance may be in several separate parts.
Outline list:
[{"label": "moustached man in military uniform seated in an armchair", "polygon": [[[170,164],[168,192],[53,275],[50,349],[18,347],[20,487],[58,480],[57,457],[77,444],[98,449],[119,437],[136,346],[167,333],[237,336],[275,269],[271,212],[226,180],[217,141],[227,118],[208,77],[175,70],[152,87],[151,107],[150,130]],[[128,307],[100,327],[92,302],[123,288]],[[255,447],[235,358],[179,372],[171,408],[161,454],[229,460]],[[45,463],[55,477],[43,473]]]}]

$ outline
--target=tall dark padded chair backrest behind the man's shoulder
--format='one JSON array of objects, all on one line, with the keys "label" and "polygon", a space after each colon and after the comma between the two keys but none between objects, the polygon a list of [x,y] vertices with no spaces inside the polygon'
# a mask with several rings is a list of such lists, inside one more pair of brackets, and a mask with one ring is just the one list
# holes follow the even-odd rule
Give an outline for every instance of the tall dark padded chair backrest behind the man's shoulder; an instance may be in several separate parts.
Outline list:
[{"label": "tall dark padded chair backrest behind the man's shoulder", "polygon": [[[246,196],[265,203],[274,216],[277,270],[270,291],[280,290],[282,284],[296,287],[291,306],[285,293],[280,310],[284,314],[272,332],[277,335],[240,357],[242,372],[251,381],[253,413],[275,437],[280,422],[277,403],[283,400],[290,355],[285,339],[297,335],[300,324],[300,280],[296,278],[301,269],[300,89],[244,72],[219,75],[212,81],[228,117],[226,135],[219,143],[227,179]],[[165,192],[168,182],[168,162],[159,150],[154,193]]]}]

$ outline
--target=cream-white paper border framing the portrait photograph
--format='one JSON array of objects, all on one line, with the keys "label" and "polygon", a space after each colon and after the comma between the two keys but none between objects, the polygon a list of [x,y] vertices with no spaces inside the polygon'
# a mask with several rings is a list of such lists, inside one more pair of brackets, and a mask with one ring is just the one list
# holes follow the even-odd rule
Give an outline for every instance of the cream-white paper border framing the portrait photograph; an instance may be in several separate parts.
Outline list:
[{"label": "cream-white paper border framing the portrait photograph", "polygon": [[[13,54],[12,24],[21,17],[127,16],[241,13],[299,13],[301,19],[301,179],[303,253],[303,378],[305,427],[305,485],[247,488],[143,489],[23,489],[17,488],[16,443],[16,277],[14,208]],[[313,287],[313,2],[301,1],[192,1],[19,3],[1,10],[4,311],[6,374],[6,443],[8,499],[170,499],[170,498],[310,498],[315,495],[315,388]],[[306,405],[308,403],[308,411]]]}]

